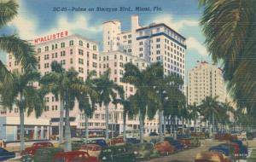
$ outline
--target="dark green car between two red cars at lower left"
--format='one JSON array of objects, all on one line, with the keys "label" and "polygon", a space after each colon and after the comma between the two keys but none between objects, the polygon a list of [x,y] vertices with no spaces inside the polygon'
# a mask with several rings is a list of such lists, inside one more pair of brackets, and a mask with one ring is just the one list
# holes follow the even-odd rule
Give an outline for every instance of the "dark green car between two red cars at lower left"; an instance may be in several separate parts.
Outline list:
[{"label": "dark green car between two red cars at lower left", "polygon": [[63,149],[54,148],[54,147],[46,147],[46,148],[38,148],[37,152],[34,156],[26,155],[25,159],[21,158],[23,162],[49,162],[57,153],[62,153]]}]

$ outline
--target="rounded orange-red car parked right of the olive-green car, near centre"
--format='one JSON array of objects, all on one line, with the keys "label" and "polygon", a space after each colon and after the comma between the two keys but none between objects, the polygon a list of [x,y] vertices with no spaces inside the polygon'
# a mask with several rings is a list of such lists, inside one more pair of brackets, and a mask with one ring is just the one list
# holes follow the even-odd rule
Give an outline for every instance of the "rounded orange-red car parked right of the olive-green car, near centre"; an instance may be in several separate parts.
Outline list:
[{"label": "rounded orange-red car parked right of the olive-green car, near centre", "polygon": [[154,145],[154,148],[161,154],[161,155],[169,155],[175,152],[175,148],[170,144],[170,142],[157,142]]}]

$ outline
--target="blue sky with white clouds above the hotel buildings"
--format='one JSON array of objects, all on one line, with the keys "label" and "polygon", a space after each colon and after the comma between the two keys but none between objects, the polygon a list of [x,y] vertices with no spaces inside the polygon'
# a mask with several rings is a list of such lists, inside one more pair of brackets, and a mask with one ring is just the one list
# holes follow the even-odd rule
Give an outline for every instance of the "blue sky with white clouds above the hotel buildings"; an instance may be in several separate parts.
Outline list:
[{"label": "blue sky with white clouds above the hotel buildings", "polygon": [[[33,40],[39,36],[67,30],[70,34],[79,34],[96,40],[102,45],[102,22],[121,20],[122,30],[129,31],[131,15],[138,14],[140,26],[152,22],[166,23],[182,34],[186,39],[186,70],[195,67],[197,61],[211,61],[204,45],[205,37],[199,22],[202,9],[198,0],[19,0],[19,14],[8,26],[0,29],[0,34],[19,34],[20,38]],[[132,11],[98,12],[88,9],[131,7]],[[135,11],[136,7],[151,11]],[[161,10],[153,11],[154,7]],[[54,11],[56,8],[86,8],[87,11]],[[5,61],[3,51],[0,59]]]}]

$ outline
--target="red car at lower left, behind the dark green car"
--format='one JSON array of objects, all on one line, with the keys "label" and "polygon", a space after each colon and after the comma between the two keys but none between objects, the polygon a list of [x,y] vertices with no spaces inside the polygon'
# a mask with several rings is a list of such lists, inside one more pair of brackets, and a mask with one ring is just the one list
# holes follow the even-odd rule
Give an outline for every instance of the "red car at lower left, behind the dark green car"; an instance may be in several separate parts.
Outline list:
[{"label": "red car at lower left, behind the dark green car", "polygon": [[52,142],[36,142],[36,143],[33,143],[31,147],[23,150],[20,154],[21,156],[28,155],[28,154],[33,156],[37,152],[38,148],[46,148],[46,147],[54,147],[54,145]]}]

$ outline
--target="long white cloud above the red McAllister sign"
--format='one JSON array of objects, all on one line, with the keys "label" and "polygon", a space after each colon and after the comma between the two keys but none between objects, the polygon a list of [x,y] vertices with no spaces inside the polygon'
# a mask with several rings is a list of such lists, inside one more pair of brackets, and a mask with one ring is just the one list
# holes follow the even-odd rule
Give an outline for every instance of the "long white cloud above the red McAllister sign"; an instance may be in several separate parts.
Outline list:
[{"label": "long white cloud above the red McAllister sign", "polygon": [[[19,11],[28,11],[26,7],[20,1]],[[9,23],[9,26],[14,26],[16,32],[19,33],[20,38],[33,39],[38,36],[48,35],[49,33],[60,32],[67,30],[69,33],[77,33],[76,31],[84,33],[96,33],[102,32],[102,26],[90,26],[90,15],[89,14],[77,14],[73,19],[68,19],[67,15],[62,14],[56,17],[56,24],[54,27],[45,29],[45,32],[38,26],[38,17],[33,16],[28,12],[20,12],[18,16]],[[41,32],[39,32],[41,31]]]}]

